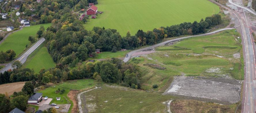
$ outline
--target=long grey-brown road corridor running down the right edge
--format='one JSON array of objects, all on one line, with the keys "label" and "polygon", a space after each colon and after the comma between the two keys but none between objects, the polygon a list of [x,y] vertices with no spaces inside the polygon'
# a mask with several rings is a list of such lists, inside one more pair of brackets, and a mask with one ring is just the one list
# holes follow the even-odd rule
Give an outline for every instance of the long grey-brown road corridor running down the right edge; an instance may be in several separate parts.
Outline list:
[{"label": "long grey-brown road corridor running down the right edge", "polygon": [[[243,52],[244,52],[244,64],[245,64],[245,68],[244,68],[244,85],[243,85],[243,98],[242,98],[242,113],[255,113],[256,111],[256,93],[255,93],[255,56],[254,56],[254,43],[252,42],[251,39],[251,33],[249,31],[249,27],[246,21],[246,17],[244,15],[244,11],[242,12],[242,16],[244,17],[244,19],[242,19],[242,16],[230,9],[229,7],[226,7],[224,5],[221,5],[220,3],[217,3],[213,0],[210,0],[213,3],[220,5],[221,7],[224,7],[225,9],[230,10],[232,13],[234,13],[237,18],[240,21],[240,25],[241,30],[242,30],[242,39],[243,39]],[[240,5],[236,5],[232,2],[232,0],[229,0],[229,2],[235,6],[241,7],[243,9],[248,9],[246,7],[242,7]],[[243,10],[242,9],[242,10]],[[249,9],[250,10],[250,9]],[[248,11],[249,11],[248,10]],[[250,12],[250,11],[249,11]],[[253,14],[255,14],[255,12],[253,12]]]}]

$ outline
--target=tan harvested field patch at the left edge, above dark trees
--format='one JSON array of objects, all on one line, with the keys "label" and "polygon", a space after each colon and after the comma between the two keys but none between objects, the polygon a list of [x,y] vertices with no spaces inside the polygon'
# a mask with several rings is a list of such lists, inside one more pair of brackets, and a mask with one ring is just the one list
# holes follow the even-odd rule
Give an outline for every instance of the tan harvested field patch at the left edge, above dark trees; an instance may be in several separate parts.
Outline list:
[{"label": "tan harvested field patch at the left edge, above dark trees", "polygon": [[25,84],[25,82],[17,82],[17,83],[9,83],[9,84],[0,85],[0,93],[5,94],[5,92],[7,92],[8,95],[10,96],[15,91],[16,92],[21,91],[24,84]]}]

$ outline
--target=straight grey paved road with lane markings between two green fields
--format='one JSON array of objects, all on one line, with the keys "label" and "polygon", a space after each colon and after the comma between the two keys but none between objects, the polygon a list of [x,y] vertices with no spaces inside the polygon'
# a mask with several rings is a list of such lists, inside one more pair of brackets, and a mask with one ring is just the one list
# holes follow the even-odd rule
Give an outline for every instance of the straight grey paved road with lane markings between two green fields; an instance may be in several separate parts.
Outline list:
[{"label": "straight grey paved road with lane markings between two green fields", "polygon": [[[41,45],[43,42],[45,41],[44,38],[41,38],[39,41],[37,41],[37,43],[35,43],[31,48],[29,48],[28,51],[26,51],[22,56],[20,56],[19,58],[16,58],[15,60],[19,60],[22,64],[26,61],[27,57],[33,52],[35,51],[35,49],[37,49],[37,47],[39,47],[39,45]],[[7,64],[3,69],[0,70],[0,73],[3,73],[9,69],[13,69],[12,68],[12,63],[15,61],[13,60],[12,62],[10,62],[9,64]]]}]

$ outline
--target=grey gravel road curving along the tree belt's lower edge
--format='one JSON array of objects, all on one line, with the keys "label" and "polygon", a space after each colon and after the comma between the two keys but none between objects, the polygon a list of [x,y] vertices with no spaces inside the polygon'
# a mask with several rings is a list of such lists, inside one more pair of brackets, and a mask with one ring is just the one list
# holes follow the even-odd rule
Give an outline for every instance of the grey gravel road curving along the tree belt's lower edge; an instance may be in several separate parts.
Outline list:
[{"label": "grey gravel road curving along the tree belt's lower edge", "polygon": [[134,51],[130,51],[130,52],[128,53],[128,57],[124,58],[123,61],[124,61],[124,62],[129,61],[130,58],[132,57],[132,54],[135,53],[135,52],[138,52],[138,51],[147,50],[147,49],[152,48],[152,47],[158,47],[158,46],[164,45],[164,44],[169,43],[169,42],[172,42],[172,41],[177,41],[177,40],[186,39],[186,38],[190,38],[190,37],[198,37],[198,36],[212,35],[212,34],[214,34],[214,33],[217,33],[217,32],[223,31],[223,30],[230,30],[230,29],[234,29],[234,28],[224,28],[224,29],[216,30],[216,31],[209,32],[209,33],[205,33],[205,34],[201,34],[201,35],[193,35],[193,36],[181,37],[181,38],[177,38],[177,39],[171,39],[171,40],[164,41],[164,42],[162,42],[162,43],[158,43],[158,44],[155,44],[155,45],[152,45],[152,46],[149,46],[149,47],[145,47],[145,48],[137,49],[137,50],[134,50]]}]

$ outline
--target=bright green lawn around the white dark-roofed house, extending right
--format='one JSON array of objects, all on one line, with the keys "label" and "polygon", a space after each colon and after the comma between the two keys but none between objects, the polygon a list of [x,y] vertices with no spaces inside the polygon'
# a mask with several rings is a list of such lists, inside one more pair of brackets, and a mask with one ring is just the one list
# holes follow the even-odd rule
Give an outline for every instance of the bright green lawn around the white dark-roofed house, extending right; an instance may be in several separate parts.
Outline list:
[{"label": "bright green lawn around the white dark-roofed house, extending right", "polygon": [[[71,111],[71,108],[73,107],[73,102],[69,99],[67,94],[69,93],[70,89],[80,90],[80,89],[86,89],[93,87],[96,84],[96,82],[93,79],[80,79],[80,80],[73,80],[73,81],[67,81],[65,83],[61,83],[59,85],[55,85],[55,87],[48,87],[43,91],[39,91],[39,93],[43,93],[43,97],[48,96],[48,98],[52,98],[52,101],[50,103],[55,104],[68,104],[68,101],[71,103],[71,107],[69,112]],[[55,93],[55,91],[60,88],[60,90],[65,89],[65,92],[63,94]],[[60,97],[60,100],[57,101],[56,97]],[[65,98],[68,99],[68,101]]]}]

